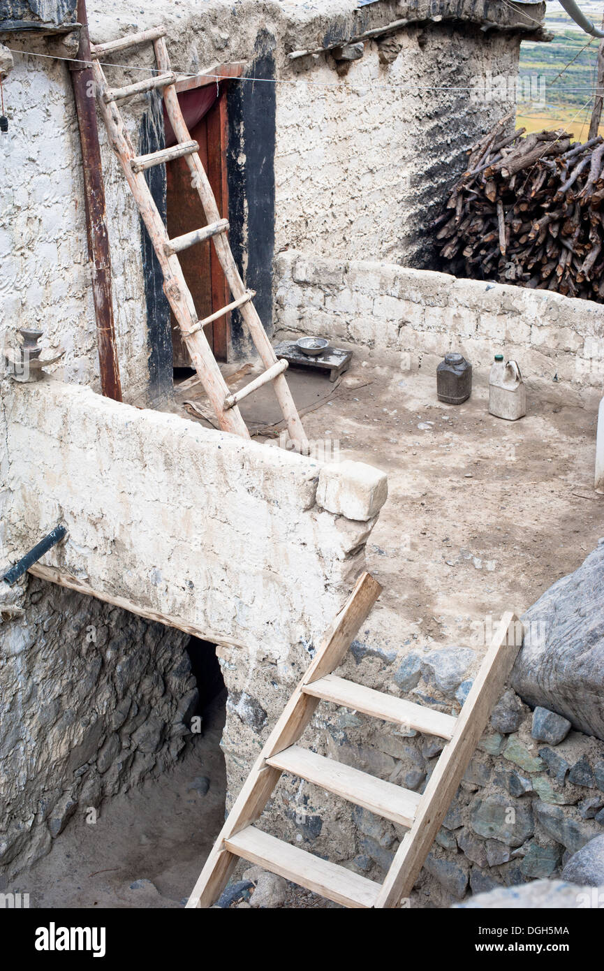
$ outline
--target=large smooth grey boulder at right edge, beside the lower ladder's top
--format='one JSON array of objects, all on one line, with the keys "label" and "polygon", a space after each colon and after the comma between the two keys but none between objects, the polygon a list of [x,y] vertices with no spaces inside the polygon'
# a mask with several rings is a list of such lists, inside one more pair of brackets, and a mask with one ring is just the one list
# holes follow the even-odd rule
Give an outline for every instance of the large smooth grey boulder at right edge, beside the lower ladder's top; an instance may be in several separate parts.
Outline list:
[{"label": "large smooth grey boulder at right edge, beside the lower ladder's top", "polygon": [[521,618],[512,685],[531,706],[604,739],[604,539]]}]

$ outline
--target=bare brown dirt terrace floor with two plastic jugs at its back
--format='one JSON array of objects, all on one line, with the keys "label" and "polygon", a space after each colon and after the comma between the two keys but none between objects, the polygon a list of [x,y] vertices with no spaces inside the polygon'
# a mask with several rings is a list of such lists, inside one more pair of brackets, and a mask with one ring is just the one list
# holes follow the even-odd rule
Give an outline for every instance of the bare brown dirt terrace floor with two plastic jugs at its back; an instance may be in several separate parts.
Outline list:
[{"label": "bare brown dirt terrace floor with two plastic jugs at its back", "polygon": [[[355,389],[362,378],[372,383]],[[440,403],[435,384],[433,368],[357,361],[304,423],[311,439],[339,440],[342,458],[388,476],[367,546],[385,587],[372,629],[476,647],[481,623],[523,613],[604,534],[597,411],[567,404],[554,383],[529,385],[527,415],[506,421],[488,414],[485,376],[459,406]]]}]

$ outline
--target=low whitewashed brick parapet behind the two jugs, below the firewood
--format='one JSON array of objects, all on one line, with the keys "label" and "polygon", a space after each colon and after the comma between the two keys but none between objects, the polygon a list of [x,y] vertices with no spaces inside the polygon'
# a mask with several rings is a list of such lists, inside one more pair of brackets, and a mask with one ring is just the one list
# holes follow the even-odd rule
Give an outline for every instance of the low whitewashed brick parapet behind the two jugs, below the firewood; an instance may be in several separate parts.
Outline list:
[{"label": "low whitewashed brick parapet behind the two jugs, below the firewood", "polygon": [[588,300],[295,251],[276,259],[275,286],[278,328],[394,352],[403,370],[460,351],[487,374],[503,352],[529,381],[601,393],[604,310]]}]

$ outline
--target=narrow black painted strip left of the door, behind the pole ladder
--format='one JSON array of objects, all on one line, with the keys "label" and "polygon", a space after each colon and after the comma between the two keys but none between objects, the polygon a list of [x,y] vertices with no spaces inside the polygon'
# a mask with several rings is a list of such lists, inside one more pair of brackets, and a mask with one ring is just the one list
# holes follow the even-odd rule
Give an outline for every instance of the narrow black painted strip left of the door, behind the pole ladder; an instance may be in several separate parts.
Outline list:
[{"label": "narrow black painted strip left of the door, behind the pole ladder", "polygon": [[[151,108],[141,124],[140,153],[148,154],[164,148],[161,100],[151,96]],[[164,223],[166,221],[165,166],[154,165],[145,171],[147,184]],[[149,349],[149,399],[159,402],[173,394],[172,332],[170,305],[163,292],[163,275],[151,239],[141,219],[143,277],[147,301],[147,346]]]}]

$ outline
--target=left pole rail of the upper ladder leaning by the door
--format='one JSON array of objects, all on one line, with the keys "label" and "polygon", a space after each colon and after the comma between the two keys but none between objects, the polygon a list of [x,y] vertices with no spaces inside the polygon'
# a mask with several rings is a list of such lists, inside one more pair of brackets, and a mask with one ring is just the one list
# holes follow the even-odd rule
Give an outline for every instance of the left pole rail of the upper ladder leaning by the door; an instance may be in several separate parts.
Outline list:
[{"label": "left pole rail of the upper ladder leaning by the door", "polygon": [[151,243],[164,276],[164,292],[185,336],[193,366],[217,414],[220,428],[223,431],[241,435],[243,438],[250,438],[250,432],[239,409],[224,410],[224,399],[230,391],[203,330],[196,330],[187,337],[187,330],[192,330],[197,323],[197,315],[180,261],[178,256],[167,256],[164,252],[164,246],[170,242],[166,227],[155,206],[144,174],[132,171],[130,163],[136,155],[116,104],[112,102],[107,104],[103,98],[107,81],[98,60],[93,61],[92,70],[97,91],[100,94],[98,104],[101,114],[141,218],[150,234]]}]

